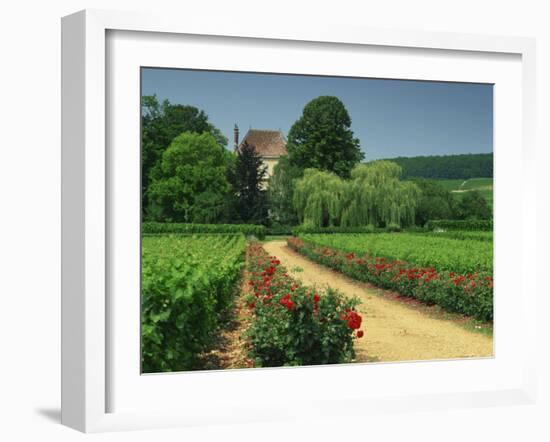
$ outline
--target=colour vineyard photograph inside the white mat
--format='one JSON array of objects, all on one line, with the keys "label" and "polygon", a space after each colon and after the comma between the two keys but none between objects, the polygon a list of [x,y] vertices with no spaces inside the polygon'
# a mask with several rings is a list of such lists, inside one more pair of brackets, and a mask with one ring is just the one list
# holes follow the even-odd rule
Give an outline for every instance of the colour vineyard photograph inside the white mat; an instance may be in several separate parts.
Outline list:
[{"label": "colour vineyard photograph inside the white mat", "polygon": [[140,75],[141,373],[495,356],[493,84]]}]

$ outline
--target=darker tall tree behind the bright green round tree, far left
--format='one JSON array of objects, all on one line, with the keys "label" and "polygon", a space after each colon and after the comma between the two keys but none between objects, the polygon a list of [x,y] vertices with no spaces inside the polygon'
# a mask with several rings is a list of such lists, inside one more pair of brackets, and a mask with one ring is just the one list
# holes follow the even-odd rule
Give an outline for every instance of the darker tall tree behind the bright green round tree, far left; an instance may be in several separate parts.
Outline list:
[{"label": "darker tall tree behind the bright green round tree, far left", "polygon": [[193,106],[159,103],[156,96],[141,99],[141,184],[142,204],[147,215],[147,190],[151,174],[159,166],[162,154],[174,138],[183,132],[210,133],[219,146],[227,146],[227,138],[214,127],[208,116]]}]

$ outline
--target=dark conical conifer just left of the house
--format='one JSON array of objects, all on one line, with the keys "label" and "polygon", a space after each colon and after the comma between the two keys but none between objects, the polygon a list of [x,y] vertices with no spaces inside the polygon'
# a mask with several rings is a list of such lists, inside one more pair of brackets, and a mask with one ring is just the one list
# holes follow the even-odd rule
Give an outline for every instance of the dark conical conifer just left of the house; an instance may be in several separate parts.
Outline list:
[{"label": "dark conical conifer just left of the house", "polygon": [[267,166],[256,148],[244,143],[239,149],[235,164],[230,170],[233,185],[235,212],[244,223],[264,224],[267,220],[267,200],[264,180]]}]

